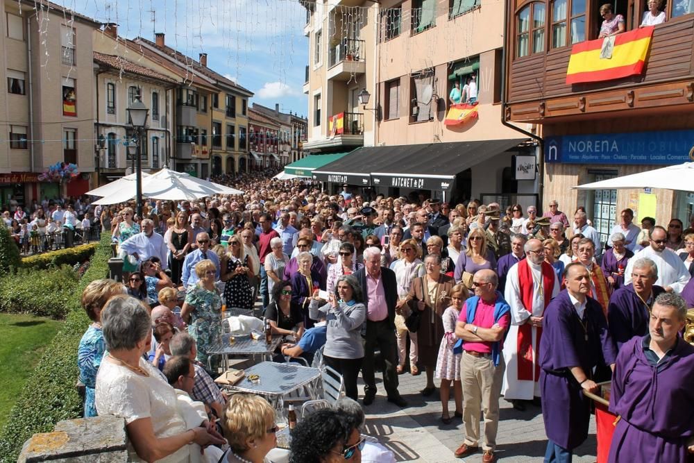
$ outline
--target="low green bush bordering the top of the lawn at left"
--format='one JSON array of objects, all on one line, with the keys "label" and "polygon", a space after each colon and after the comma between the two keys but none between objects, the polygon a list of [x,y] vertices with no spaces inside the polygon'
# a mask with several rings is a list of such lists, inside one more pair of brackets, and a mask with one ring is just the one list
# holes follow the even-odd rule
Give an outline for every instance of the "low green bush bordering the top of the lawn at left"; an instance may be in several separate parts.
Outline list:
[{"label": "low green bush bordering the top of the lawn at left", "polygon": [[0,312],[65,318],[78,280],[77,272],[67,266],[8,273],[0,277]]}]

